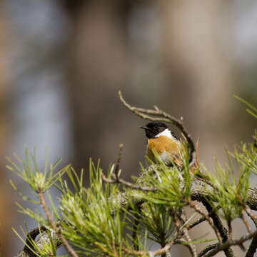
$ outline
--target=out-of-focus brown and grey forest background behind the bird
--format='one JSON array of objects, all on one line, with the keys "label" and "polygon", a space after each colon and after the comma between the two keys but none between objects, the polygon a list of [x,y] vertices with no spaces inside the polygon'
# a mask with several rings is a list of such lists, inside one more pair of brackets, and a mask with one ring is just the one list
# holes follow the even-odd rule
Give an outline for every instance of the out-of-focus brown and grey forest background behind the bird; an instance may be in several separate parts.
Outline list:
[{"label": "out-of-focus brown and grey forest background behind the bird", "polygon": [[[214,155],[225,159],[224,146],[251,141],[256,121],[233,95],[257,106],[256,26],[253,0],[1,0],[2,256],[23,247],[11,227],[36,226],[17,213],[9,179],[29,188],[6,171],[5,156],[36,146],[44,163],[47,146],[50,161],[62,157],[77,171],[89,157],[108,168],[124,143],[124,176],[138,173],[146,121],[121,105],[119,90],[134,106],[183,116],[210,169]],[[236,227],[240,235],[243,224]]]}]

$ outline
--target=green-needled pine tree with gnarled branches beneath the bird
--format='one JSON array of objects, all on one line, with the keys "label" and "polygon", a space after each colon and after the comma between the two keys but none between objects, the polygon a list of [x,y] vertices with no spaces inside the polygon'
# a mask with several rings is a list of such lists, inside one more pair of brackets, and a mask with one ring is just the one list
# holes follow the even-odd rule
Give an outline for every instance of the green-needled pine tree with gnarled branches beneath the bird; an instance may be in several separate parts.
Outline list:
[{"label": "green-needled pine tree with gnarled branches beneath the bird", "polygon": [[[146,166],[141,165],[141,176],[133,177],[131,183],[122,178],[121,145],[118,160],[111,163],[108,171],[101,169],[100,162],[89,161],[90,186],[85,188],[83,171],[78,176],[70,165],[55,171],[60,160],[49,165],[46,158],[41,172],[35,154],[27,149],[24,160],[17,155],[15,161],[8,158],[7,168],[29,184],[35,197],[24,195],[11,181],[24,201],[35,204],[32,210],[17,203],[19,211],[39,223],[31,231],[21,228],[25,239],[14,230],[25,245],[18,256],[56,256],[59,246],[64,246],[73,257],[170,256],[176,244],[187,247],[193,257],[215,256],[220,251],[231,257],[234,256],[231,246],[240,246],[247,257],[253,256],[257,228],[251,230],[246,215],[257,226],[253,212],[257,210],[257,189],[251,188],[249,181],[251,175],[257,175],[256,135],[252,143],[241,143],[233,151],[226,151],[228,163],[221,166],[217,161],[215,173],[211,173],[199,166],[197,147],[181,120],[156,106],[154,109],[130,106],[120,92],[119,96],[124,106],[142,119],[163,121],[181,130],[183,167],[167,167],[156,154],[156,163],[148,160]],[[246,104],[248,113],[257,118],[257,109]],[[54,206],[49,194],[52,186],[61,192],[59,206]],[[193,209],[192,216],[186,215],[186,207]],[[233,238],[231,225],[235,218],[240,218],[248,231],[238,239]],[[189,236],[188,231],[202,222],[208,223],[215,238],[205,236],[199,240]],[[243,245],[246,241],[251,241],[248,249]],[[159,245],[155,251],[151,250],[153,242]],[[196,251],[196,244],[208,242],[201,252]]]}]

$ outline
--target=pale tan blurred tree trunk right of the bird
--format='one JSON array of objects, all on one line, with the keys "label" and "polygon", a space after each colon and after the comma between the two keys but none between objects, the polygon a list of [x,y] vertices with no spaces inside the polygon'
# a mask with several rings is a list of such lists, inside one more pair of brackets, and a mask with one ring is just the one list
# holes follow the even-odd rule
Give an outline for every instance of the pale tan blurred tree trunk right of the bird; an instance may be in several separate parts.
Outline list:
[{"label": "pale tan blurred tree trunk right of the bird", "polygon": [[[195,140],[200,137],[200,161],[208,168],[214,165],[214,154],[224,159],[223,147],[231,145],[235,136],[231,133],[233,64],[223,42],[225,7],[221,0],[158,1],[166,109],[183,116]],[[194,231],[195,236],[202,235],[204,229]]]}]

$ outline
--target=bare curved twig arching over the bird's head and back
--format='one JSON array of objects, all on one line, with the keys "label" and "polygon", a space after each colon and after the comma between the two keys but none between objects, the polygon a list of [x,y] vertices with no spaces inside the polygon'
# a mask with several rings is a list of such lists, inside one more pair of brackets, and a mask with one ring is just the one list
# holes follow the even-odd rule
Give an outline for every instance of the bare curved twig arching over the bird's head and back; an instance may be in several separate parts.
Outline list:
[{"label": "bare curved twig arching over the bird's head and back", "polygon": [[181,133],[186,137],[186,141],[188,142],[188,153],[190,156],[189,163],[193,161],[193,155],[196,151],[196,148],[194,146],[191,135],[188,133],[188,131],[186,131],[186,128],[185,126],[183,126],[181,119],[176,119],[175,117],[167,114],[161,109],[158,109],[157,106],[154,106],[154,110],[131,106],[124,100],[121,91],[119,91],[119,98],[121,99],[121,103],[124,104],[124,106],[126,106],[127,109],[129,109],[133,112],[133,114],[136,114],[142,119],[147,119],[149,121],[163,121],[176,126],[181,131]]}]

